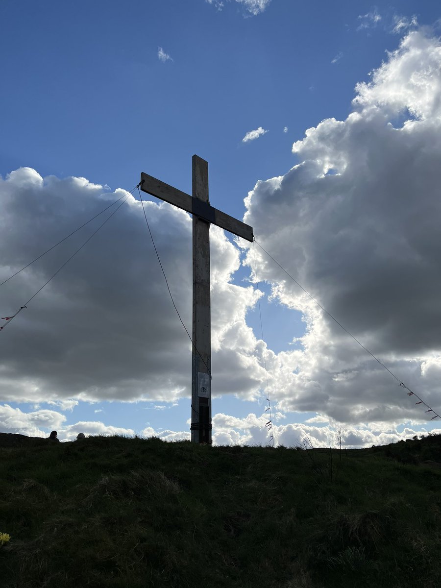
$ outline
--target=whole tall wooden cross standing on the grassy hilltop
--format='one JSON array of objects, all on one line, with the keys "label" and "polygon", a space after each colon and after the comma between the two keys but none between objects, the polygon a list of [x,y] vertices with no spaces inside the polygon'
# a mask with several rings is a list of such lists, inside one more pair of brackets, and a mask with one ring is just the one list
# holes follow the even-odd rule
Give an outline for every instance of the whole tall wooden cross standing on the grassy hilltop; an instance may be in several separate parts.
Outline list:
[{"label": "whole tall wooden cross standing on the grassy hilltop", "polygon": [[211,439],[211,304],[210,304],[210,224],[253,241],[253,229],[220,212],[208,200],[208,163],[193,155],[193,195],[141,173],[141,190],[193,215],[193,348],[192,420],[193,443]]}]

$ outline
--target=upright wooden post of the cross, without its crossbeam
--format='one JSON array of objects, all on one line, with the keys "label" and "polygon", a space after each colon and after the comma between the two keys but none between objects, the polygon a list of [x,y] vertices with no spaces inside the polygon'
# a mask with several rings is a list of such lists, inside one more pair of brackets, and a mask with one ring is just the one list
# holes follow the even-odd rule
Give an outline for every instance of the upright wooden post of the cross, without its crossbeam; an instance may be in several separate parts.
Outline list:
[{"label": "upright wooden post of the cross, without its crossbeam", "polygon": [[[193,198],[209,204],[208,162],[193,155]],[[193,443],[211,445],[210,223],[193,214]]]}]

